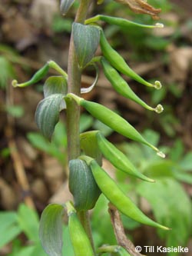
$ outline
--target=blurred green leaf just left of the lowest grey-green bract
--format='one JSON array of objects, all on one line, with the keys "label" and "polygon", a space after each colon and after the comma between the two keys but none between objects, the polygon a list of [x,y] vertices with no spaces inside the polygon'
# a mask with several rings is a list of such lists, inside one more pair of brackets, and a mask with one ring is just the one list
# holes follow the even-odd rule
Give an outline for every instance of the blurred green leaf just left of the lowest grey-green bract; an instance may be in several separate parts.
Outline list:
[{"label": "blurred green leaf just left of the lowest grey-green bract", "polygon": [[25,204],[20,204],[18,208],[18,224],[22,231],[31,241],[38,241],[38,214],[28,208]]}]

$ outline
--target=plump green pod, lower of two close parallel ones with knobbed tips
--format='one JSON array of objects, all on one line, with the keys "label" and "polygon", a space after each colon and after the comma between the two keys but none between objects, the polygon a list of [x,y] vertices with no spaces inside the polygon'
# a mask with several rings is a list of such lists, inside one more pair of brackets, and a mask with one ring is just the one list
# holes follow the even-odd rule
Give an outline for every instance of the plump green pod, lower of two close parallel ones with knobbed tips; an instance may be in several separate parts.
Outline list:
[{"label": "plump green pod, lower of two close parallel ones with knobbed tips", "polygon": [[118,91],[120,95],[123,95],[125,98],[130,98],[132,101],[137,102],[139,105],[141,105],[144,108],[147,108],[148,110],[161,113],[159,111],[159,107],[151,108],[144,101],[142,101],[141,98],[139,98],[134,93],[134,91],[131,90],[129,85],[127,85],[127,82],[124,81],[124,78],[122,78],[121,75],[119,75],[118,71],[116,71],[113,67],[111,67],[111,65],[106,59],[101,58],[101,64],[102,64],[102,67],[104,68],[104,75],[106,76],[106,78],[108,78],[108,81],[111,82],[111,85],[113,86],[115,91]]}]

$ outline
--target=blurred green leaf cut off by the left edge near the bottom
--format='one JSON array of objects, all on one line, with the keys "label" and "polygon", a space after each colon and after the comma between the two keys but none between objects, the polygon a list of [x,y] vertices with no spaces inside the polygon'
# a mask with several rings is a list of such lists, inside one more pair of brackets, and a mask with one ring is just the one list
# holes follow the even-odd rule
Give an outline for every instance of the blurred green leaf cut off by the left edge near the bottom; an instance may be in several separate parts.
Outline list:
[{"label": "blurred green leaf cut off by the left edge near the bottom", "polygon": [[15,239],[21,232],[15,212],[0,212],[0,248]]}]

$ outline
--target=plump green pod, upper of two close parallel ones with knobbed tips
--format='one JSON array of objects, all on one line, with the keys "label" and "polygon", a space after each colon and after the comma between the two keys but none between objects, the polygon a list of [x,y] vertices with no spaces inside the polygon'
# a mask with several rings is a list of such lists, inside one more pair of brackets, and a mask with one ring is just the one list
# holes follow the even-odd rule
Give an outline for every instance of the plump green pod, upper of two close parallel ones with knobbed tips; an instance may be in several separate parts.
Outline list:
[{"label": "plump green pod, upper of two close parallel ones with knobbed tips", "polygon": [[135,71],[133,71],[127,63],[124,61],[124,58],[121,57],[121,55],[116,52],[111,45],[109,45],[107,39],[104,36],[104,32],[101,30],[101,36],[100,36],[100,45],[101,45],[101,51],[105,58],[107,58],[108,62],[111,63],[111,65],[116,68],[118,71],[120,71],[122,74],[127,75],[131,78],[133,78],[135,81],[138,81],[142,85],[146,85],[149,87],[154,87],[157,89],[161,88],[160,81],[156,81],[155,85],[152,85],[148,81],[145,81],[144,78],[141,78],[140,75],[137,75]]}]

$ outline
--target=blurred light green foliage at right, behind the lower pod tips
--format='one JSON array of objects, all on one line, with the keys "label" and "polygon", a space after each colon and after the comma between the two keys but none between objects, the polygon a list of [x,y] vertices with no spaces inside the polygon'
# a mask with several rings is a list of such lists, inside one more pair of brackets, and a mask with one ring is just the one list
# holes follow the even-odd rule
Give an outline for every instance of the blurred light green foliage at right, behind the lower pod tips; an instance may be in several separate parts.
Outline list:
[{"label": "blurred light green foliage at right, behind the lower pod tips", "polygon": [[[145,131],[144,137],[151,138],[151,143],[154,145],[157,145],[159,141],[159,135],[154,131]],[[179,181],[192,184],[190,173],[192,171],[192,152],[184,155],[184,146],[179,140],[175,142],[173,148],[164,148],[168,155],[164,160],[154,156],[151,149],[145,146],[138,147],[134,143],[124,143],[121,145],[121,150],[129,157],[132,155],[135,165],[156,181],[154,184],[137,182],[134,185],[134,192],[136,191],[140,197],[146,198],[151,204],[157,221],[172,227],[173,230],[166,233],[158,230],[160,238],[166,241],[167,247],[186,246],[192,228],[192,204]],[[135,154],[137,154],[137,158],[134,158]],[[124,223],[126,222],[124,220]],[[172,254],[168,253],[168,255]]]}]

